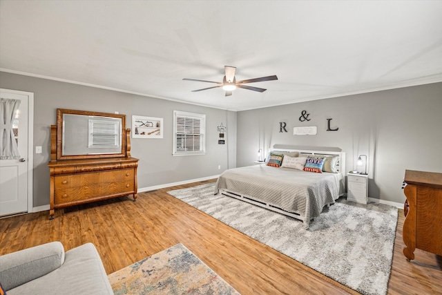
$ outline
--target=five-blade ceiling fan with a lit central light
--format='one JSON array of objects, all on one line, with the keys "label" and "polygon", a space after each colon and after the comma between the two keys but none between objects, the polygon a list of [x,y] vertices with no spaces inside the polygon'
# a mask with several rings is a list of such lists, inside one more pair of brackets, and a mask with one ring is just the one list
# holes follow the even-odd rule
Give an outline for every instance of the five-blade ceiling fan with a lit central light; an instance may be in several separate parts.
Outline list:
[{"label": "five-blade ceiling fan with a lit central light", "polygon": [[199,80],[199,79],[189,79],[189,78],[184,78],[183,80],[196,81],[196,82],[209,82],[209,83],[218,84],[217,86],[213,86],[213,87],[209,87],[209,88],[202,88],[202,89],[194,90],[192,92],[198,92],[198,91],[203,91],[203,90],[207,90],[207,89],[211,89],[211,88],[222,87],[222,89],[224,89],[224,91],[226,91],[226,96],[230,96],[230,95],[232,95],[232,91],[234,91],[236,88],[242,88],[242,89],[248,89],[248,90],[251,90],[251,91],[264,92],[267,89],[247,86],[247,85],[244,85],[244,84],[254,83],[254,82],[271,81],[271,80],[277,80],[278,79],[278,77],[276,77],[276,75],[273,75],[273,76],[267,76],[267,77],[260,77],[260,78],[236,81],[236,78],[235,78],[236,68],[234,66],[224,66],[224,70],[225,70],[226,74],[224,75],[224,78],[222,78],[222,82],[213,82],[213,81]]}]

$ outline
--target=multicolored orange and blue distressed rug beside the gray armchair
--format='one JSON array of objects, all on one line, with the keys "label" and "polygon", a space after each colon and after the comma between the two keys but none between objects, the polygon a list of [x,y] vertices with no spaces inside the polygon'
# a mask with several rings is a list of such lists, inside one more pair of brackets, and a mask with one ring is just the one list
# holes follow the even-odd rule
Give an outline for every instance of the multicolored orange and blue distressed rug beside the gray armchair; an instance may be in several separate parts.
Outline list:
[{"label": "multicolored orange and blue distressed rug beside the gray armchair", "polygon": [[120,294],[239,294],[182,244],[108,275]]}]

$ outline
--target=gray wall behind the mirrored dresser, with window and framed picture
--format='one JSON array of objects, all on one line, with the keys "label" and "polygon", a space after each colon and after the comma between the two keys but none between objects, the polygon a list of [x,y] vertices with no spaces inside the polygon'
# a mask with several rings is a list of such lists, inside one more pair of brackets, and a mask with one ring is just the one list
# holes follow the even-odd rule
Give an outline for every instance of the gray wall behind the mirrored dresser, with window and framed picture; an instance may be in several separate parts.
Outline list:
[{"label": "gray wall behind the mirrored dresser, with window and framed picture", "polygon": [[[34,155],[34,207],[49,204],[50,125],[56,123],[57,108],[118,111],[126,115],[126,128],[132,115],[164,118],[163,139],[131,138],[131,155],[140,159],[139,189],[207,178],[236,166],[236,112],[5,72],[0,72],[0,88],[34,93],[34,146],[43,146],[43,153]],[[206,114],[206,155],[173,157],[173,111]],[[221,123],[227,126],[224,145],[218,144]]]}]

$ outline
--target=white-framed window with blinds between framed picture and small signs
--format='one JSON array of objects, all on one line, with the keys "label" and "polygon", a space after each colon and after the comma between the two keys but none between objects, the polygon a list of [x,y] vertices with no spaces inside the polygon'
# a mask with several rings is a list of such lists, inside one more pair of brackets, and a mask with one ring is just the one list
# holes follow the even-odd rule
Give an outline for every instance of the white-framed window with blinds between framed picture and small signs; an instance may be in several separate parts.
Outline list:
[{"label": "white-framed window with blinds between framed picture and small signs", "polygon": [[173,111],[173,155],[206,153],[206,115]]}]

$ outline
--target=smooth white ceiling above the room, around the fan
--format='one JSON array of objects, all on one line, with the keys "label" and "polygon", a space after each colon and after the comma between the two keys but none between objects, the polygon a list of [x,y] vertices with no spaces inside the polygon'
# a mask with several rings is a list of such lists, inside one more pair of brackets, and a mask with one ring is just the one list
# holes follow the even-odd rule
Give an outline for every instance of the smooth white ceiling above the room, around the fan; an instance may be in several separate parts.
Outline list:
[{"label": "smooth white ceiling above the room, around the fan", "polygon": [[[0,1],[0,70],[241,111],[442,81],[442,1]],[[222,82],[278,75],[237,89]]]}]

